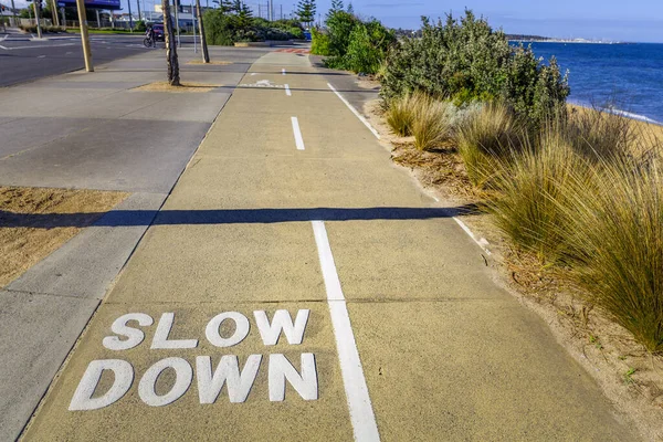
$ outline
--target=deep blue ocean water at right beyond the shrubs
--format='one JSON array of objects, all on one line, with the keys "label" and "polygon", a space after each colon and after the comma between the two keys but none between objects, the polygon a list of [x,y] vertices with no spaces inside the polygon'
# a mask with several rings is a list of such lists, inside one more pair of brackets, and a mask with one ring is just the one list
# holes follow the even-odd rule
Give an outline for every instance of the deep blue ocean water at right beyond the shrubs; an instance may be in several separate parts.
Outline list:
[{"label": "deep blue ocean water at right beyond the shrubs", "polygon": [[663,44],[532,43],[569,70],[569,102],[663,123]]}]

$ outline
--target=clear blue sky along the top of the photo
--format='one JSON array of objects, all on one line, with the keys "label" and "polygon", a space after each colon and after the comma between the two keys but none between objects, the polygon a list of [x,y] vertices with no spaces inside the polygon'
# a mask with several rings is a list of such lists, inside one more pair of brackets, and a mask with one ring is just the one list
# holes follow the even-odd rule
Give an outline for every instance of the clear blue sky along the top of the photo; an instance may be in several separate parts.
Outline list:
[{"label": "clear blue sky along the top of the photo", "polygon": [[[134,12],[137,1],[147,9],[160,3],[160,0],[131,0]],[[296,3],[296,0],[273,1],[277,14],[281,6],[287,14]],[[203,6],[207,2],[201,0]],[[256,14],[259,2],[265,4],[267,0],[246,0]],[[24,0],[17,0],[17,4],[23,3]],[[330,3],[332,0],[317,0],[323,18]],[[122,4],[126,11],[127,0],[122,0]],[[457,15],[467,7],[487,17],[494,28],[502,27],[509,33],[663,42],[663,0],[355,0],[352,6],[357,13],[376,17],[393,28],[419,28],[421,15],[438,18],[449,11]]]}]

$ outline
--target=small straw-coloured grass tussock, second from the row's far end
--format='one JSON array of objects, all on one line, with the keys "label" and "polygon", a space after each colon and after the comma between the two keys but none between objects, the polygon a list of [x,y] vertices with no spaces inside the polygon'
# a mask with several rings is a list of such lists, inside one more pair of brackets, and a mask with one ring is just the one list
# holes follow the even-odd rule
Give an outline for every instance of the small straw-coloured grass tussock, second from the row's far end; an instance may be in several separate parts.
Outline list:
[{"label": "small straw-coloured grass tussock, second from the row's far end", "polygon": [[439,102],[429,96],[420,95],[415,99],[412,135],[414,147],[419,150],[439,148],[451,138],[450,103]]}]

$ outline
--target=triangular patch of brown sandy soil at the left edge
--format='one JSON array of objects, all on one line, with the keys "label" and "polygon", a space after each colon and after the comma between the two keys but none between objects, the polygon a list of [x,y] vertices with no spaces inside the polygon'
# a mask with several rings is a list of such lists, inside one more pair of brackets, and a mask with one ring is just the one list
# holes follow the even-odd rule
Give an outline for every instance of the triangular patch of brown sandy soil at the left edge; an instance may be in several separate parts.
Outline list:
[{"label": "triangular patch of brown sandy soil at the left edge", "polygon": [[[0,287],[127,196],[96,190],[0,187]],[[56,217],[61,213],[74,215],[62,225],[62,219]]]}]

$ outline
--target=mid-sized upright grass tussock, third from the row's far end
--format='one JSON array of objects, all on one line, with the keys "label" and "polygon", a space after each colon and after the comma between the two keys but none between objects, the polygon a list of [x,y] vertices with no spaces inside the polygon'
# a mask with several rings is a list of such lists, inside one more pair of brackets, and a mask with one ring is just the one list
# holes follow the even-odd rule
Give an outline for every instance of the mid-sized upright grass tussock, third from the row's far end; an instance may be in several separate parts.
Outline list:
[{"label": "mid-sized upright grass tussock, third from the row's far end", "polygon": [[518,149],[522,136],[522,124],[502,104],[485,105],[461,124],[457,148],[472,183],[485,187],[499,164]]}]

